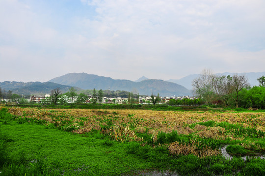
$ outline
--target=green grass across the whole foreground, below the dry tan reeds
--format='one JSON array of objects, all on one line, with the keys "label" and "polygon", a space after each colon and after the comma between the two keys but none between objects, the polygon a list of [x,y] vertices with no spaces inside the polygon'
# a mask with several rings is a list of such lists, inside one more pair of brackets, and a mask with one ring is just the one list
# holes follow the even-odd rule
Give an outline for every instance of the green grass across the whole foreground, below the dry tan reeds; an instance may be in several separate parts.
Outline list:
[{"label": "green grass across the whole foreground, below the dry tan reeds", "polygon": [[169,154],[169,141],[188,137],[159,133],[159,143],[165,144],[151,147],[144,142],[115,141],[96,130],[77,134],[50,129],[38,121],[13,118],[2,108],[0,176],[132,176],[160,170],[178,176],[265,175],[265,160],[260,158],[228,160],[222,155],[199,158]]}]

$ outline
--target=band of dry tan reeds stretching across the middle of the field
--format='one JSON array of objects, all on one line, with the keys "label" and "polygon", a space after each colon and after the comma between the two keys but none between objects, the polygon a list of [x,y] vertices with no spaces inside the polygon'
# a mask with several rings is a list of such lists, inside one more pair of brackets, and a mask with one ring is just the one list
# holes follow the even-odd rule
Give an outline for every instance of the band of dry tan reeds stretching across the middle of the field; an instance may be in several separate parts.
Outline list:
[{"label": "band of dry tan reeds stretching across the middle of the field", "polygon": [[[220,126],[205,126],[198,123],[214,122],[237,125],[242,129],[256,129],[265,132],[264,112],[205,112],[205,111],[153,111],[153,110],[80,110],[80,109],[21,109],[9,108],[9,112],[28,121],[38,120],[47,126],[54,125],[69,129],[76,133],[101,130],[107,127],[128,129],[132,137],[134,132],[147,132],[156,136],[158,132],[173,132],[178,134],[194,134],[201,138],[241,139],[235,135],[235,130],[226,130]],[[192,125],[193,124],[193,125]],[[127,128],[127,129],[126,129]],[[247,135],[247,134],[246,134]],[[261,136],[263,137],[263,136]]]}]

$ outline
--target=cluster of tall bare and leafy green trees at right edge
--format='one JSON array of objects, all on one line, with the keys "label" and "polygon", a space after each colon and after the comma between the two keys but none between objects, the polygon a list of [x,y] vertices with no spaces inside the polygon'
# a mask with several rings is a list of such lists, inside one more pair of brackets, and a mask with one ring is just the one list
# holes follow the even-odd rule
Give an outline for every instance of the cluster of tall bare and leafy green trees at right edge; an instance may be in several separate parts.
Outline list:
[{"label": "cluster of tall bare and leafy green trees at right edge", "polygon": [[203,70],[192,82],[194,93],[204,104],[224,107],[265,108],[265,76],[257,78],[260,86],[250,87],[245,75],[223,76]]}]

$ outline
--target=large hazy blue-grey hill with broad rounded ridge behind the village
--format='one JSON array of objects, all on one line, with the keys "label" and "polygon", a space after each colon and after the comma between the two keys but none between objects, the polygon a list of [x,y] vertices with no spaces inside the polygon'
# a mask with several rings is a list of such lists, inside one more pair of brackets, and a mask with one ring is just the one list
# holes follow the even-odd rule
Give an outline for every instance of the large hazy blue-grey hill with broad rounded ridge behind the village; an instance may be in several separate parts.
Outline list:
[{"label": "large hazy blue-grey hill with broad rounded ridge behind the village", "polygon": [[50,80],[50,82],[75,86],[83,89],[110,89],[126,90],[139,93],[141,95],[151,95],[159,93],[160,96],[184,96],[192,95],[192,92],[176,83],[163,80],[148,79],[140,82],[130,80],[115,80],[109,77],[98,76],[87,73],[69,73]]}]

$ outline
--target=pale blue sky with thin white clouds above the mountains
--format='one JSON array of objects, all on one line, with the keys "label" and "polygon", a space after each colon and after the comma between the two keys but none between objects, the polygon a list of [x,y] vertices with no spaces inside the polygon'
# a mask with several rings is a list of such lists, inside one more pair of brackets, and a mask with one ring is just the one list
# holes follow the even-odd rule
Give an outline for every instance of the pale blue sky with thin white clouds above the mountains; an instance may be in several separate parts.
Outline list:
[{"label": "pale blue sky with thin white clouds above the mountains", "polygon": [[0,0],[0,82],[265,71],[265,0]]}]

